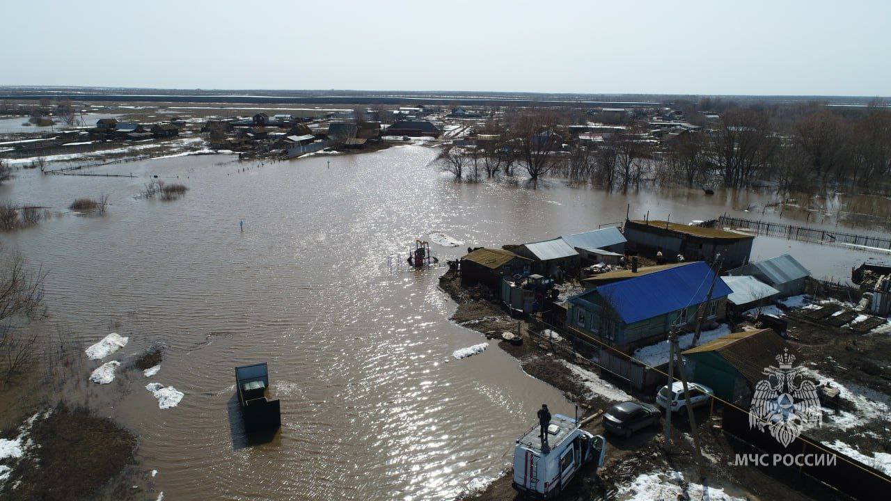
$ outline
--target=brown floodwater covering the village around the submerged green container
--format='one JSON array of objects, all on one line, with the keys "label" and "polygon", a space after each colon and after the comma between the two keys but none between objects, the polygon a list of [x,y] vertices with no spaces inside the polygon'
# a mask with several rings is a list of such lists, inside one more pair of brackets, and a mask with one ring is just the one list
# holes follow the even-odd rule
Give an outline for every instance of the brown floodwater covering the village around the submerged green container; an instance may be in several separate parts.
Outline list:
[{"label": "brown floodwater covering the village around the submerged green container", "polygon": [[[192,156],[94,170],[135,178],[20,171],[0,199],[62,210],[103,192],[111,206],[104,217],[64,215],[3,240],[49,270],[53,321],[85,346],[118,323],[130,344],[110,359],[167,347],[158,375],[124,372],[96,389],[129,389],[102,412],[138,433],[141,465],[159,471],[166,498],[449,499],[508,466],[541,403],[573,410],[494,344],[452,359],[482,337],[448,321],[443,268],[393,273],[389,253],[434,231],[501,245],[621,221],[627,204],[633,218],[650,210],[689,221],[744,215],[734,208],[766,199],[455,184],[428,167],[435,153],[399,146],[263,167]],[[149,175],[178,177],[190,191],[142,200]],[[464,252],[434,247],[440,259]],[[755,247],[753,258],[792,251],[826,276],[848,273],[858,257],[763,237]],[[257,361],[269,363],[282,398],[282,430],[245,447],[233,367]],[[184,391],[183,401],[159,409],[143,390],[150,381]]]}]

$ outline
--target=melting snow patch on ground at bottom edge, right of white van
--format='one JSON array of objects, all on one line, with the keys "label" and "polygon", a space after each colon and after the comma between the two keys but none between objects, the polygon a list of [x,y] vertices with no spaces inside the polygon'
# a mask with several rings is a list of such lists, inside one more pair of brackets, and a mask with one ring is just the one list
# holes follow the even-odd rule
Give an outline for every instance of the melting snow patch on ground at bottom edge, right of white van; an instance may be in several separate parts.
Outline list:
[{"label": "melting snow patch on ground at bottom edge, right of white van", "polygon": [[683,480],[681,472],[642,473],[628,485],[618,488],[617,499],[651,501],[652,499],[708,499],[709,501],[745,501],[715,487]]}]

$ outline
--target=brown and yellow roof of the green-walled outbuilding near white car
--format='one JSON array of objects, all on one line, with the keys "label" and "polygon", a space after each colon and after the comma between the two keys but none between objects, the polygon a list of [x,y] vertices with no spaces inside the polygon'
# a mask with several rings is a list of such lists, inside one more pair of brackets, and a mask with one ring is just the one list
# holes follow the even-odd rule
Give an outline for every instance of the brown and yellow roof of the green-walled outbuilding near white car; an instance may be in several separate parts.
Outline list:
[{"label": "brown and yellow roof of the green-walled outbuilding near white car", "polygon": [[764,379],[764,368],[776,365],[776,356],[789,346],[771,329],[746,331],[722,336],[682,352],[682,355],[715,352],[749,382]]}]

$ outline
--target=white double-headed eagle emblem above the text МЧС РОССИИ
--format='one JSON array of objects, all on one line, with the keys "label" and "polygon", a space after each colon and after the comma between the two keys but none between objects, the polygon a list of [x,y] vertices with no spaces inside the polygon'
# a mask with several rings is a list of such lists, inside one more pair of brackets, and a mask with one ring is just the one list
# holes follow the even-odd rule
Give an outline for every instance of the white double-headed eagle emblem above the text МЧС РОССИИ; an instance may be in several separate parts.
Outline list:
[{"label": "white double-headed eagle emblem above the text \u041c\u0427\u0421 \u0420\u041e\u0421\u0421\u0418\u0418", "polygon": [[762,372],[767,378],[755,385],[748,426],[761,431],[766,427],[783,447],[789,447],[805,425],[820,426],[822,408],[817,387],[805,379],[805,369],[792,366],[795,356],[787,349],[776,360],[780,366],[766,367]]}]

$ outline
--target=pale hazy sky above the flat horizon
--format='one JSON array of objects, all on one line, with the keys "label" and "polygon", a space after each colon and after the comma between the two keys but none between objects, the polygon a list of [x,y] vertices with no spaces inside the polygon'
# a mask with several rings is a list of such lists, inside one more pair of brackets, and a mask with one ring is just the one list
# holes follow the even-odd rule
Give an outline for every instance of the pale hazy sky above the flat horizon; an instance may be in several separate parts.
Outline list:
[{"label": "pale hazy sky above the flat horizon", "polygon": [[0,85],[891,95],[891,1],[7,1]]}]

